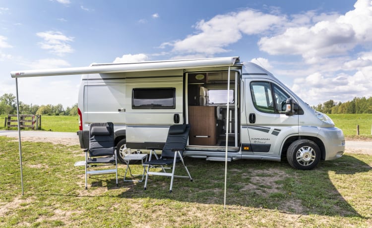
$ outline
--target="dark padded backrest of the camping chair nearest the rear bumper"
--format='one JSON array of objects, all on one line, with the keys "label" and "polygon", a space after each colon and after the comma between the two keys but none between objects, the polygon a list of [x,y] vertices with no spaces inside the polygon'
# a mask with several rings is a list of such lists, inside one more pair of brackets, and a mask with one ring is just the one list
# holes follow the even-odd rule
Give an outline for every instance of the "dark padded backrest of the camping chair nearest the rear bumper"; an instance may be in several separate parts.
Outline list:
[{"label": "dark padded backrest of the camping chair nearest the rear bumper", "polygon": [[114,147],[114,124],[112,122],[90,124],[90,157],[114,155]]}]

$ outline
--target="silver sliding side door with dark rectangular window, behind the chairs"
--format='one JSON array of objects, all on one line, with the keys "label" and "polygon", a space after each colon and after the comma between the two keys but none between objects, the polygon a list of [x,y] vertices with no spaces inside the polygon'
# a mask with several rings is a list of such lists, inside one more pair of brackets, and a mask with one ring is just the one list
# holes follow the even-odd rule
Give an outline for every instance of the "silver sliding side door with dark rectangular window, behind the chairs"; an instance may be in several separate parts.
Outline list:
[{"label": "silver sliding side door with dark rectangular window, behind the chairs", "polygon": [[[149,146],[148,142],[165,142],[169,126],[176,123],[176,116],[181,123],[184,120],[183,71],[130,72],[125,76],[126,143],[128,146],[136,145],[138,147],[136,149],[146,149]],[[142,96],[140,103],[144,104],[135,107],[134,92],[139,90],[145,93],[140,94]],[[157,108],[157,104],[153,104],[161,102],[153,96],[156,97],[158,94],[155,93],[159,91],[161,93],[162,90],[174,92],[171,108]],[[151,100],[152,98],[154,100]]]}]

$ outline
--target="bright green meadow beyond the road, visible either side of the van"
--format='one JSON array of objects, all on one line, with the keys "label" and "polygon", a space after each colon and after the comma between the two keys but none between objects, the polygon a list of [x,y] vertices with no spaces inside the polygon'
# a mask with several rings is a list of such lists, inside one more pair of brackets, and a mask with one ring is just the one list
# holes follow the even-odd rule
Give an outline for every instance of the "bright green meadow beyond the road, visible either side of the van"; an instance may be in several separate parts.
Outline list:
[{"label": "bright green meadow beyond the road, visible either side of the van", "polygon": [[[372,114],[329,114],[336,127],[341,128],[348,137],[355,137],[357,125],[359,125],[360,135],[372,138]],[[5,115],[0,116],[0,129],[3,127]],[[43,115],[42,130],[76,132],[79,127],[79,117],[77,115]],[[16,128],[14,128],[16,129]]]}]

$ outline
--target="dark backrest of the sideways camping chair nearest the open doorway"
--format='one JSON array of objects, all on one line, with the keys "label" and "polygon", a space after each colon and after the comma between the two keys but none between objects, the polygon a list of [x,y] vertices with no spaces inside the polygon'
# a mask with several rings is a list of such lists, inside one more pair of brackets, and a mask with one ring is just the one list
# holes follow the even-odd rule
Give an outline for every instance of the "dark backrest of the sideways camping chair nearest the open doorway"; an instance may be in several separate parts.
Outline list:
[{"label": "dark backrest of the sideways camping chair nearest the open doorway", "polygon": [[[190,124],[175,124],[169,127],[167,141],[162,150],[162,158],[174,158],[172,149],[184,149],[186,147]],[[181,151],[181,156],[184,152]]]}]

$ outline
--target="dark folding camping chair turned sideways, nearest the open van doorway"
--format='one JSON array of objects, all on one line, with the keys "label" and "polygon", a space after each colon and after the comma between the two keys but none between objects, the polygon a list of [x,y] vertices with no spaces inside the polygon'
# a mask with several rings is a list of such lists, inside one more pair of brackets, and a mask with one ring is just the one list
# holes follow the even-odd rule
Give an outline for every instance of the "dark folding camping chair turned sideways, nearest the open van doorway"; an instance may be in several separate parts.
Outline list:
[{"label": "dark folding camping chair turned sideways, nearest the open van doorway", "polygon": [[[171,176],[171,187],[169,189],[169,192],[171,193],[172,193],[174,177],[190,178],[190,180],[192,181],[190,172],[187,170],[187,167],[183,159],[189,131],[190,131],[190,124],[176,124],[176,125],[170,126],[169,131],[168,131],[167,141],[162,149],[162,154],[159,159],[151,160],[151,156],[153,153],[155,154],[155,150],[161,150],[161,149],[147,148],[148,150],[151,150],[151,151],[150,151],[149,161],[143,163],[144,167],[147,166],[144,190],[146,190],[147,179],[149,175]],[[176,163],[178,162],[182,162],[182,164],[184,165],[186,169],[188,176],[175,175]],[[164,167],[164,166],[170,166],[170,167]],[[151,172],[150,171],[150,168],[159,168],[159,167],[162,168],[162,172]],[[170,169],[172,170],[172,172],[166,172],[165,169]]]}]

